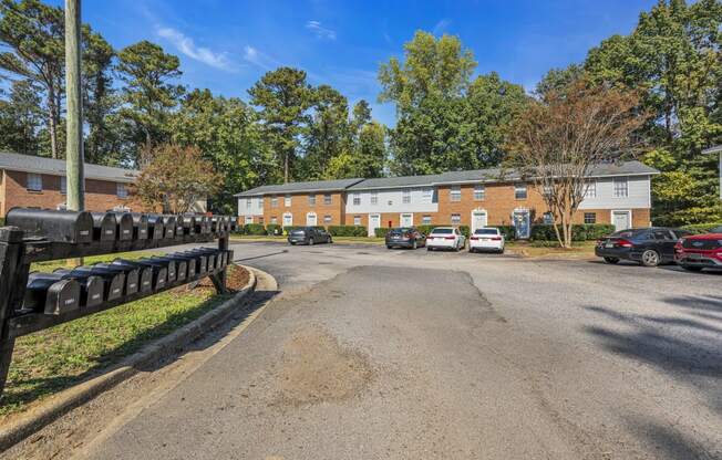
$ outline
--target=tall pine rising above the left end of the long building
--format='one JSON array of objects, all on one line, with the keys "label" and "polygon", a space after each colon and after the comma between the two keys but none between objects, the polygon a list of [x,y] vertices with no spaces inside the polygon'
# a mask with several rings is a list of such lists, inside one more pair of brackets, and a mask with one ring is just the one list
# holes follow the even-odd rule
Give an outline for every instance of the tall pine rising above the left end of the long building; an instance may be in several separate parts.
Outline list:
[{"label": "tall pine rising above the left end of the long building", "polygon": [[299,135],[310,122],[307,113],[312,104],[312,90],[306,72],[279,67],[267,72],[250,90],[250,103],[259,107],[266,138],[283,168],[283,181],[293,177]]}]

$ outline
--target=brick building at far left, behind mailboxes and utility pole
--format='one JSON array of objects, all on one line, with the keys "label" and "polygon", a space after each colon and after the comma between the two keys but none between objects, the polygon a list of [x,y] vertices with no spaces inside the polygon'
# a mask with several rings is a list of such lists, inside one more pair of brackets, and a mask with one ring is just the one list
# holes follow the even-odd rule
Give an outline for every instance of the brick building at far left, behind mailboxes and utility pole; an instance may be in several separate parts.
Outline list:
[{"label": "brick building at far left, behind mailboxes and utility pole", "polygon": [[[85,209],[148,211],[134,197],[137,170],[85,164]],[[0,217],[14,207],[61,209],[65,206],[65,161],[0,153]],[[205,202],[196,205],[205,211]]]}]

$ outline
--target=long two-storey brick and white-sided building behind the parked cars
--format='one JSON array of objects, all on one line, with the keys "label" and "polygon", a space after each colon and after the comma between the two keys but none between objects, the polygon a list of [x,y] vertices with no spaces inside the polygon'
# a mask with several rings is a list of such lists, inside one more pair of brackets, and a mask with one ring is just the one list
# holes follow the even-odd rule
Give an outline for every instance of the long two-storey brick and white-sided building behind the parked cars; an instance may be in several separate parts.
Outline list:
[{"label": "long two-storey brick and white-sided building behind the parked cars", "polygon": [[[575,221],[616,228],[650,224],[650,181],[659,174],[639,161],[600,165]],[[262,186],[238,198],[241,223],[282,226],[358,224],[369,229],[419,224],[517,227],[549,221],[544,199],[515,172],[498,169],[437,175],[342,179]]]}]

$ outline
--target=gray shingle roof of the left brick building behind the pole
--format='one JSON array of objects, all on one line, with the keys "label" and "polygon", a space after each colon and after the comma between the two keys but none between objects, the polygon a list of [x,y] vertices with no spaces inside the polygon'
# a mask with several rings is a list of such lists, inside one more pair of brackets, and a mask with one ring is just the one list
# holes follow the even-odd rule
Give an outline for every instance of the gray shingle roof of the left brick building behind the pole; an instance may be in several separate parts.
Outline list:
[{"label": "gray shingle roof of the left brick building behind the pole", "polygon": [[[65,160],[3,151],[0,153],[0,169],[64,176]],[[114,168],[87,163],[84,172],[86,179],[112,180],[115,182],[132,182],[140,174],[136,169]]]}]

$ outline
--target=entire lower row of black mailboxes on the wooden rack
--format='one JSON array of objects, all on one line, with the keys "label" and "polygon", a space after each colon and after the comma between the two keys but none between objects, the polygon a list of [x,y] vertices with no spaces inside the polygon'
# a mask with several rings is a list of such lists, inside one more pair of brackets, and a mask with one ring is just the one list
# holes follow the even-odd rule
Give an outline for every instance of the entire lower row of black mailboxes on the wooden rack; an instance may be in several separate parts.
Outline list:
[{"label": "entire lower row of black mailboxes on the wooden rack", "polygon": [[110,263],[33,272],[22,310],[60,315],[137,294],[152,294],[215,273],[228,265],[233,251],[193,249],[138,260],[115,259]]}]

